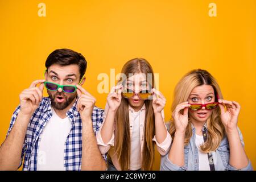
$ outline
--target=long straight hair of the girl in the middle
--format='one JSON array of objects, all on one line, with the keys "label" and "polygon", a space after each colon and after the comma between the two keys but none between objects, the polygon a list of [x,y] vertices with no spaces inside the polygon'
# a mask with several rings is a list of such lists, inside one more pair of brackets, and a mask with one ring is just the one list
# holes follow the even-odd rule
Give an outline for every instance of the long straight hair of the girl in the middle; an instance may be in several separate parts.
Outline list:
[{"label": "long straight hair of the girl in the middle", "polygon": [[[152,86],[154,86],[154,73],[150,63],[142,58],[128,61],[122,68],[121,73],[129,77],[129,73],[152,74]],[[145,100],[146,106],[144,124],[144,143],[142,152],[142,169],[151,170],[154,162],[154,143],[152,138],[155,135],[155,117],[152,109],[152,100]],[[115,114],[116,137],[114,151],[122,170],[130,169],[130,122],[129,122],[129,102],[122,96],[121,105]]]}]

